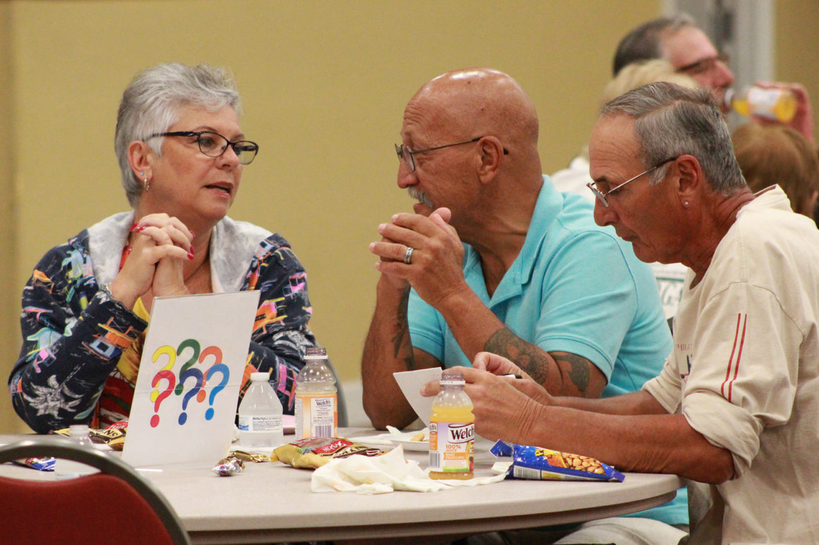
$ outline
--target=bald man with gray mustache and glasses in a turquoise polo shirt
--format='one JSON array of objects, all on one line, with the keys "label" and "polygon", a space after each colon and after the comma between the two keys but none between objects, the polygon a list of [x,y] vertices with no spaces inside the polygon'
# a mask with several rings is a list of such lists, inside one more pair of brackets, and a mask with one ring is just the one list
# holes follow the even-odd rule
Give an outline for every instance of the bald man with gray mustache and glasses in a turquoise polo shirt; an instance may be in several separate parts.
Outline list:
[{"label": "bald man with gray mustache and glasses in a turquoise polo shirt", "polygon": [[[640,389],[671,349],[649,266],[593,206],[541,171],[532,100],[508,74],[441,74],[409,100],[398,187],[418,202],[378,226],[380,272],[361,374],[378,429],[416,419],[392,376],[509,358],[555,395]],[[687,524],[685,494],[658,508]]]}]

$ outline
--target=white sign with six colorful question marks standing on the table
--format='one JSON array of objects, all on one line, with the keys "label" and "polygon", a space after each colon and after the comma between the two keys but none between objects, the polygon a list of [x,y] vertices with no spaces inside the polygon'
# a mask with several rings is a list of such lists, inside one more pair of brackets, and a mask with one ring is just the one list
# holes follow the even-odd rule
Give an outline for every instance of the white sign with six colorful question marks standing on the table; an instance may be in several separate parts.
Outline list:
[{"label": "white sign with six colorful question marks standing on the table", "polygon": [[228,453],[258,304],[258,291],[153,301],[124,462],[213,466]]}]

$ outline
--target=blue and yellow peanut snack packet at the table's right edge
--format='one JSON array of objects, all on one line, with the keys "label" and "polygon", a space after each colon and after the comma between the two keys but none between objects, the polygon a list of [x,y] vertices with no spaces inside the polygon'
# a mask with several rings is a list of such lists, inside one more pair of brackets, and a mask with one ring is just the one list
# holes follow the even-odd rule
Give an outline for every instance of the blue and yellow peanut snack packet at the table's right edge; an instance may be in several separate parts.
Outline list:
[{"label": "blue and yellow peanut snack packet at the table's right edge", "polygon": [[509,479],[614,480],[626,477],[612,466],[579,454],[498,441],[490,449],[496,457],[512,457]]}]

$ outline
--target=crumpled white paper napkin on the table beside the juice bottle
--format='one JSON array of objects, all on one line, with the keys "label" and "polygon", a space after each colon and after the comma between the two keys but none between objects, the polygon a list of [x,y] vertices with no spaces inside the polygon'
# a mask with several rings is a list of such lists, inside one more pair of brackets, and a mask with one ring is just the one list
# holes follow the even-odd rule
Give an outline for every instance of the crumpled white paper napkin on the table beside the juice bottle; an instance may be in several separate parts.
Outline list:
[{"label": "crumpled white paper napkin on the table beside the juice bottle", "polygon": [[310,489],[313,492],[357,492],[382,494],[394,490],[412,492],[435,492],[452,486],[477,486],[496,483],[503,475],[477,477],[470,480],[433,480],[419,463],[405,460],[400,446],[381,456],[353,454],[346,458],[331,460],[313,471]]}]

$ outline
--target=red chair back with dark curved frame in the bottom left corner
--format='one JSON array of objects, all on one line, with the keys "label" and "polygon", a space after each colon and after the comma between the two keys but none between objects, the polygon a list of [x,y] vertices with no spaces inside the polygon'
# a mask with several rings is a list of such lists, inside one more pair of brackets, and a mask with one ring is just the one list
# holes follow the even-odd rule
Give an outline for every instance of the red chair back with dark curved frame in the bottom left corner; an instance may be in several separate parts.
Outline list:
[{"label": "red chair back with dark curved frame in the bottom left corner", "polygon": [[27,457],[75,460],[100,472],[58,481],[0,477],[0,542],[190,545],[170,503],[117,457],[52,436],[0,447],[0,462]]}]

